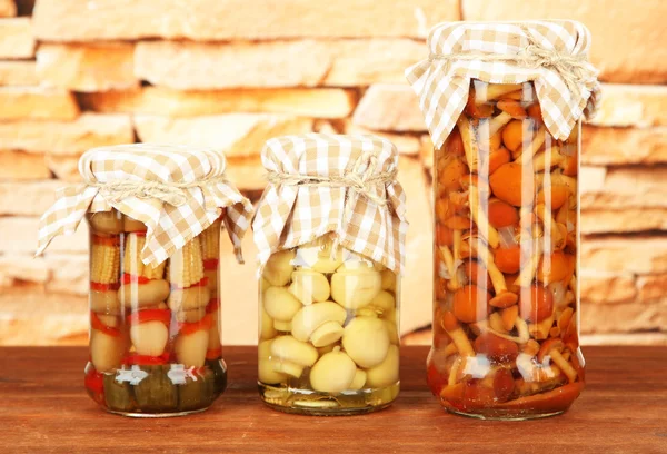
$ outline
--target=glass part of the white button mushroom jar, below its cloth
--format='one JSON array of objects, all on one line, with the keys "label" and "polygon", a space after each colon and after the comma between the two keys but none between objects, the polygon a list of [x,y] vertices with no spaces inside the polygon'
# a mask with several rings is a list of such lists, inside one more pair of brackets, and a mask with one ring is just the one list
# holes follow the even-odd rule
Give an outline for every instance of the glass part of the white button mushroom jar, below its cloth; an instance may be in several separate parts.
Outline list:
[{"label": "glass part of the white button mushroom jar, below its cloth", "polygon": [[259,389],[289,413],[355,414],[398,395],[398,279],[325,235],[271,255],[259,293]]}]

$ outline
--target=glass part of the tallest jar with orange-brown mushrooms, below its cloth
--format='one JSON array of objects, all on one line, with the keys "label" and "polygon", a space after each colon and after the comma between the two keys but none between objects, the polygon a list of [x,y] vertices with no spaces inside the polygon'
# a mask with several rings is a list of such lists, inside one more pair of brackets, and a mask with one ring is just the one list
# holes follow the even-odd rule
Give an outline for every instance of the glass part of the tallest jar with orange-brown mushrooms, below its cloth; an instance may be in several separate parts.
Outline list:
[{"label": "glass part of the tallest jar with orange-brown mushrooms, below its cloth", "polygon": [[472,80],[435,151],[428,383],[452,413],[549,416],[584,387],[579,130],[556,140],[531,82]]}]

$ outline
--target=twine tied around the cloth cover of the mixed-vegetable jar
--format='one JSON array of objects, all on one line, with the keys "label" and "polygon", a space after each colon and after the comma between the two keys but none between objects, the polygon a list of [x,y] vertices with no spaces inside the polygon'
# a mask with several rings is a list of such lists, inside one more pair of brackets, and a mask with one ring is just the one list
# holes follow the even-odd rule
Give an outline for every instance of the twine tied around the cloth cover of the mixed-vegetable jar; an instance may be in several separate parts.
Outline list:
[{"label": "twine tied around the cloth cover of the mixed-vegetable jar", "polygon": [[128,197],[137,197],[141,199],[156,198],[173,207],[180,207],[188,200],[187,189],[202,188],[220,182],[228,184],[229,180],[220,175],[189,182],[111,180],[104,182],[87,181],[87,185],[98,188],[100,195],[112,204]]}]

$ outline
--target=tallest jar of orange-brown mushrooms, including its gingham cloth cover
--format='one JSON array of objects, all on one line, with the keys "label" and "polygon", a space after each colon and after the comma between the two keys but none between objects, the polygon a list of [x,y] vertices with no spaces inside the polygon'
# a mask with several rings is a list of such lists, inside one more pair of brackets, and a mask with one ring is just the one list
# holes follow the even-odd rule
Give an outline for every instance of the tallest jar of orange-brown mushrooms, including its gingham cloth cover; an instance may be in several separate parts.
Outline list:
[{"label": "tallest jar of orange-brown mushrooms, including its gingham cloth cover", "polygon": [[[485,23],[479,27],[489,38],[507,38],[489,45],[476,40],[471,27],[436,27],[429,63],[408,71],[412,83],[429,71],[439,83],[452,83],[445,90],[449,100],[429,99],[452,118],[446,129],[429,125],[436,150],[428,383],[451,413],[550,416],[569,408],[585,378],[577,188],[581,108],[590,115],[598,96],[585,60],[589,38],[577,22]],[[500,29],[507,36],[492,33]],[[548,32],[555,29],[574,39],[554,38]],[[459,38],[444,45],[454,33]],[[488,49],[505,50],[506,58]],[[534,68],[531,55],[545,53],[567,63]],[[440,60],[465,68],[466,83],[454,87],[455,76],[429,66]],[[416,91],[426,96],[428,87]],[[462,101],[451,106],[451,99]],[[578,115],[567,117],[575,101]]]}]

